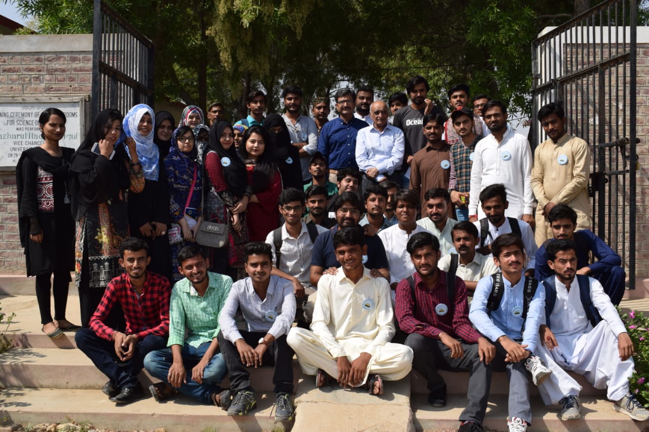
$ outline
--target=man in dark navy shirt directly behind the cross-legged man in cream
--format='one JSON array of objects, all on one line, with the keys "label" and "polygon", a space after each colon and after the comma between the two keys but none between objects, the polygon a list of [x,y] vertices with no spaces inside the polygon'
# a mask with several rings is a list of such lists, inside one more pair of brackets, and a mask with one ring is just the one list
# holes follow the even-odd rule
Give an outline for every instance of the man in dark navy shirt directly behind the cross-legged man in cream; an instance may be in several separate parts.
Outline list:
[{"label": "man in dark navy shirt directly behind the cross-legged man in cream", "polygon": [[[362,207],[360,198],[354,192],[344,192],[336,198],[334,211],[338,223],[327,232],[318,235],[313,243],[310,270],[310,280],[313,286],[318,286],[318,281],[325,270],[336,272],[336,269],[340,267],[334,249],[334,234],[342,228],[350,227],[357,227],[363,232],[363,229],[358,226]],[[381,239],[377,235],[365,235],[363,243],[367,245],[367,255],[363,256],[363,265],[370,269],[373,278],[382,276],[389,280],[390,272],[387,266],[386,249],[383,247]]]}]

